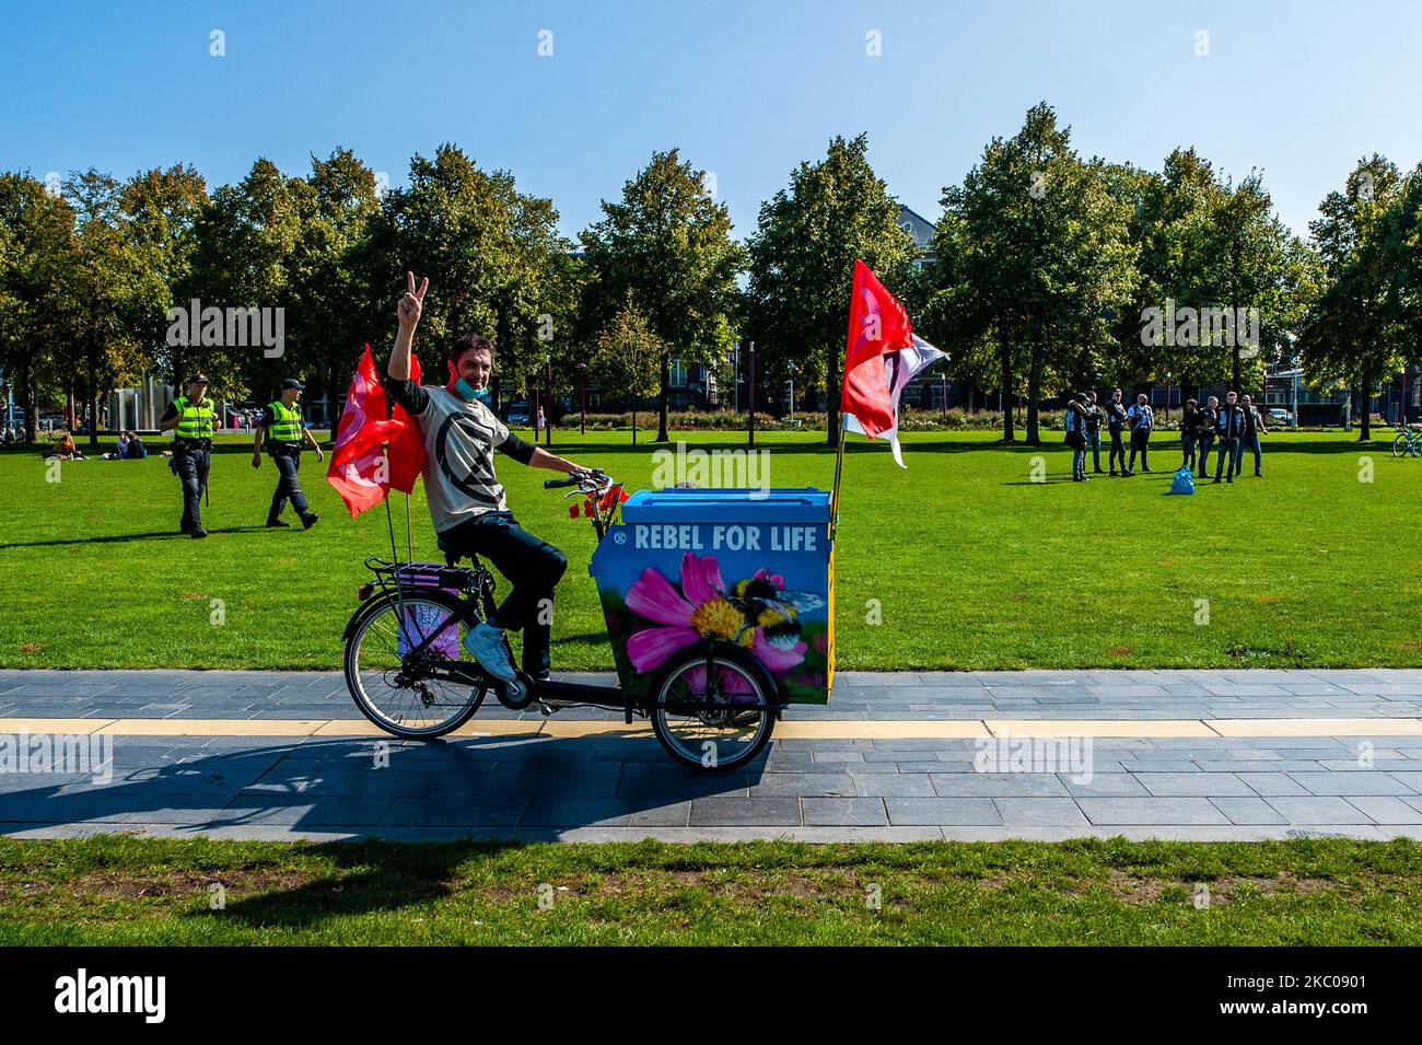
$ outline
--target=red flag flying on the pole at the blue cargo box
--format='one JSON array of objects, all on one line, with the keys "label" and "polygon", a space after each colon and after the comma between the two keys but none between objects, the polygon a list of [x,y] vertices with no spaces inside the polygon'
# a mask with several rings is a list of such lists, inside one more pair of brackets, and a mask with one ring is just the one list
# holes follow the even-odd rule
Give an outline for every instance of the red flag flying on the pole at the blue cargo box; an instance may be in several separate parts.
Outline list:
[{"label": "red flag flying on the pole at the blue cargo box", "polygon": [[894,427],[893,397],[879,357],[913,344],[909,313],[884,284],[855,260],[849,301],[849,343],[845,345],[845,388],[839,409],[853,414],[870,438]]}]

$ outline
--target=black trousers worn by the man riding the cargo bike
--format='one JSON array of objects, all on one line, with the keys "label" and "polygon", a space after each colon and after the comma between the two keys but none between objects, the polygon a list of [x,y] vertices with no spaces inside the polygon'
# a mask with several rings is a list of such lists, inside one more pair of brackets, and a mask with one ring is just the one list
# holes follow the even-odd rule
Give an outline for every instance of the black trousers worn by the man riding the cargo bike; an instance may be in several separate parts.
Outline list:
[{"label": "black trousers worn by the man riding the cargo bike", "polygon": [[523,631],[523,670],[533,675],[547,671],[553,589],[567,570],[567,556],[519,526],[509,512],[485,512],[444,530],[439,545],[483,556],[505,576],[509,593],[489,624]]}]

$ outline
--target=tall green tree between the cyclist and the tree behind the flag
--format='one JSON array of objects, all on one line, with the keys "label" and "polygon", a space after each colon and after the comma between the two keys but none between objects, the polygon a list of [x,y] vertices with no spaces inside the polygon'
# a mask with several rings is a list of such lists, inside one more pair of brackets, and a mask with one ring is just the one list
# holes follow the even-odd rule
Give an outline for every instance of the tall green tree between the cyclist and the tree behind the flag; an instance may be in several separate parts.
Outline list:
[{"label": "tall green tree between the cyclist and the tree behind the flag", "polygon": [[671,354],[708,363],[727,353],[742,250],[731,239],[727,206],[677,149],[654,152],[623,185],[621,200],[604,199],[602,208],[604,218],[583,230],[592,274],[584,323],[600,328],[626,313],[631,291],[661,343],[657,442],[665,442]]}]

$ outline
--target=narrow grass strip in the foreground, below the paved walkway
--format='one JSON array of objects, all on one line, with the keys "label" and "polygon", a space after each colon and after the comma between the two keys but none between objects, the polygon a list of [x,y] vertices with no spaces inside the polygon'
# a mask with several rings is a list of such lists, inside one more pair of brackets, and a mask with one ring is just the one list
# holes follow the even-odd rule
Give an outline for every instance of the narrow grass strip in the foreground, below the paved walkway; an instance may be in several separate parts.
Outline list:
[{"label": "narrow grass strip in the foreground, below the paved walkway", "polygon": [[245,943],[1418,945],[1422,847],[0,839],[0,945]]}]

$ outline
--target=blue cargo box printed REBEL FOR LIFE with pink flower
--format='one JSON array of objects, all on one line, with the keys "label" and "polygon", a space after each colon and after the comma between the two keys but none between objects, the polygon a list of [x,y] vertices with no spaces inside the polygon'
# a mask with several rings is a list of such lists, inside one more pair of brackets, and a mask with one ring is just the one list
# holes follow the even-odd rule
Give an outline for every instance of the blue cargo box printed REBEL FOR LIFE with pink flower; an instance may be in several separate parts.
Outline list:
[{"label": "blue cargo box printed REBEL FOR LIFE with pink flower", "polygon": [[593,553],[624,690],[643,694],[678,650],[714,637],[752,653],[786,700],[825,704],[835,678],[829,492],[633,493]]}]

